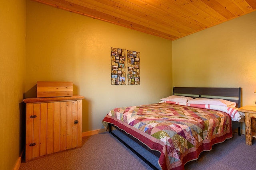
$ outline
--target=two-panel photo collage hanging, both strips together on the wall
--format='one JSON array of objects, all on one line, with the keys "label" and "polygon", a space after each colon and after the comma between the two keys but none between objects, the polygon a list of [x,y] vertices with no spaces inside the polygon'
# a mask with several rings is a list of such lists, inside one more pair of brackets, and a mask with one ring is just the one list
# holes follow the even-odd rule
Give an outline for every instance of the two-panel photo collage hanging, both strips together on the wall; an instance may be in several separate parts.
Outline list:
[{"label": "two-panel photo collage hanging, both strips together on the wall", "polygon": [[[125,49],[111,47],[111,85],[125,85]],[[128,51],[128,85],[140,84],[140,52]]]}]

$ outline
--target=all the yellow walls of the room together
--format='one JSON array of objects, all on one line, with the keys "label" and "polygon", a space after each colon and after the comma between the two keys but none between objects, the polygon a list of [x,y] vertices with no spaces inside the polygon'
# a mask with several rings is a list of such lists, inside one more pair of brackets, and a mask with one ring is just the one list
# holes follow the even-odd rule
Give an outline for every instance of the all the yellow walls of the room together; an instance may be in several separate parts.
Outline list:
[{"label": "all the yellow walls of the room together", "polygon": [[[256,100],[256,12],[173,42],[30,0],[2,2],[0,18],[1,170],[24,149],[22,100],[36,96],[37,81],[74,83],[85,96],[83,132],[101,129],[110,109],[158,102],[172,86],[242,87],[243,105]],[[110,47],[140,51],[141,85],[110,85]]]}]

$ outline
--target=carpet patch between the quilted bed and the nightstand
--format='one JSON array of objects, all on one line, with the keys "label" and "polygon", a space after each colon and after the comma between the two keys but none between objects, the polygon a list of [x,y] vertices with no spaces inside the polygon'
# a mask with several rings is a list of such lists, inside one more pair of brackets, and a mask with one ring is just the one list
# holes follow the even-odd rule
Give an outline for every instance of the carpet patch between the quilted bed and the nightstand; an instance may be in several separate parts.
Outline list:
[{"label": "carpet patch between the quilted bed and the nightstand", "polygon": [[209,152],[202,152],[198,160],[188,162],[186,170],[255,170],[256,141],[253,145],[245,144],[245,135],[226,139],[223,143],[215,144]]}]

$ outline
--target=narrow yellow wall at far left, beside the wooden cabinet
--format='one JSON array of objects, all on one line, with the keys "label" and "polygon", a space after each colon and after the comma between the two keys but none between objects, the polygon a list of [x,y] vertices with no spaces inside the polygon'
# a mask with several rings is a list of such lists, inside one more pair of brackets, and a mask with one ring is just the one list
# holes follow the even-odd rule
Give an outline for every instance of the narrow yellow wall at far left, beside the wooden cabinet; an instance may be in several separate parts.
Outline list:
[{"label": "narrow yellow wall at far left, beside the wooden cabinet", "polygon": [[0,169],[12,170],[24,148],[26,0],[1,1],[0,25]]}]

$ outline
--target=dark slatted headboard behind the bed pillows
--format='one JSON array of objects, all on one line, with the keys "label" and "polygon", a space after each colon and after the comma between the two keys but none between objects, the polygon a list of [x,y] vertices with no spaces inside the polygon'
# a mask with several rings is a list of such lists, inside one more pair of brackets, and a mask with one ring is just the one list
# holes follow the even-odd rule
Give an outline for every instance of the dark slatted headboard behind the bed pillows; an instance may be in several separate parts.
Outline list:
[{"label": "dark slatted headboard behind the bed pillows", "polygon": [[173,87],[173,95],[190,96],[192,98],[220,98],[236,102],[241,107],[242,88],[211,88],[211,87]]}]

